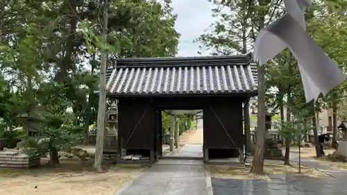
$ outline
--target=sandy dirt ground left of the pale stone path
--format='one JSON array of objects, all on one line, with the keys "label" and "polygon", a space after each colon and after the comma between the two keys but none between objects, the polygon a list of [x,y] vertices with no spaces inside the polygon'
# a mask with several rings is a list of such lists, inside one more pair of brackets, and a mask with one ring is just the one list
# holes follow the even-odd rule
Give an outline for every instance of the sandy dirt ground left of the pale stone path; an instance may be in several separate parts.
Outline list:
[{"label": "sandy dirt ground left of the pale stone path", "polygon": [[[85,150],[94,153],[93,148]],[[46,162],[42,159],[42,164]],[[113,195],[144,169],[105,163],[104,172],[95,173],[93,163],[93,159],[62,159],[56,168],[42,165],[34,169],[0,169],[0,194]]]}]

